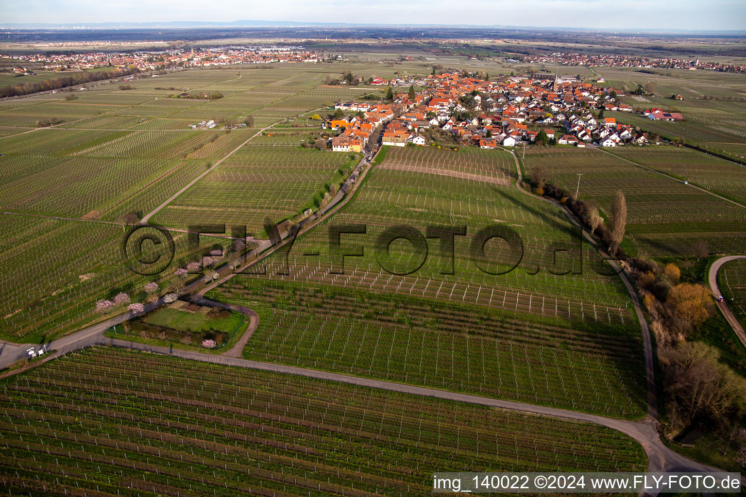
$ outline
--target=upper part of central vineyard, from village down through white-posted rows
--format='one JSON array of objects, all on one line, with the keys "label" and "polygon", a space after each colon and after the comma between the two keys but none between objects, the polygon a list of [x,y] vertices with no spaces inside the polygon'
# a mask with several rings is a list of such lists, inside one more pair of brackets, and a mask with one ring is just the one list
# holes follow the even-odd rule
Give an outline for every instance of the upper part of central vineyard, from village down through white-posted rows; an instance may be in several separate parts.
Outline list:
[{"label": "upper part of central vineyard, from village down through white-posted rows", "polygon": [[[579,232],[560,209],[521,194],[512,184],[506,186],[512,162],[501,151],[389,149],[354,200],[296,242],[289,255],[292,276],[406,294],[413,288],[433,295],[440,290],[439,298],[484,305],[492,297],[490,306],[531,308],[536,313],[551,308],[551,314],[571,319],[629,323],[632,314],[621,282],[596,272],[598,256],[591,247],[583,247],[579,260]],[[341,277],[333,274],[339,271],[339,263],[334,268],[329,265],[328,233],[331,226],[346,224],[366,224],[365,235],[344,235],[349,240],[345,243],[363,244],[365,250],[362,257],[345,258],[345,277]],[[393,270],[382,269],[375,247],[385,229],[408,225],[424,235],[431,225],[461,224],[467,227],[466,236],[454,237],[453,257],[441,253],[436,240],[429,241],[427,257],[416,270],[421,257],[409,242],[395,241],[389,250],[388,266]],[[494,224],[515,229],[524,246],[520,264],[504,274],[492,274],[509,269],[507,250],[496,241],[485,245],[485,257],[477,261],[484,270],[471,260],[471,237]],[[319,257],[310,259],[304,253],[319,253]],[[498,303],[495,295],[506,292],[506,303],[502,298]],[[592,298],[583,301],[583,295]]]}]

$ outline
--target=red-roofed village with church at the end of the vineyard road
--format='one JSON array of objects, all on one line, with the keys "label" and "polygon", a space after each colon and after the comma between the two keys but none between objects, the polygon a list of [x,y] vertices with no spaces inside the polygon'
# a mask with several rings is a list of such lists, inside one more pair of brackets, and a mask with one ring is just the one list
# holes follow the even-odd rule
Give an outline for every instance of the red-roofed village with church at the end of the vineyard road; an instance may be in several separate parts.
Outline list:
[{"label": "red-roofed village with church at the end of the vineyard road", "polygon": [[[605,111],[632,112],[630,106],[618,101],[624,96],[621,90],[558,75],[501,79],[485,80],[456,72],[419,79],[375,78],[370,81],[373,85],[409,84],[410,91],[390,91],[391,104],[336,104],[335,117],[322,127],[339,130],[339,136],[330,139],[330,147],[340,152],[361,151],[378,130],[383,130],[381,145],[397,147],[424,146],[434,137],[454,146],[480,148],[537,142],[616,147],[650,141],[646,133],[635,131],[629,124],[604,117]],[[416,91],[415,86],[424,89]],[[644,114],[653,120],[683,120],[681,114],[659,108]],[[558,132],[557,127],[565,132]]]}]

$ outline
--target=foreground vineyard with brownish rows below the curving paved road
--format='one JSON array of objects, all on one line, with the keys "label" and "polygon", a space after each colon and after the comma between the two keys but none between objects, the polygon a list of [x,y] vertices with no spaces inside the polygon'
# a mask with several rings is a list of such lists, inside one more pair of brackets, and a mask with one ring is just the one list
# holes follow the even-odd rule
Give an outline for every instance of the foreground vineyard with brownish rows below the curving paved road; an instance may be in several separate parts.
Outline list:
[{"label": "foreground vineyard with brownish rows below the curving paved road", "polygon": [[119,349],[1,388],[13,495],[399,497],[430,495],[433,472],[646,466],[598,425]]}]

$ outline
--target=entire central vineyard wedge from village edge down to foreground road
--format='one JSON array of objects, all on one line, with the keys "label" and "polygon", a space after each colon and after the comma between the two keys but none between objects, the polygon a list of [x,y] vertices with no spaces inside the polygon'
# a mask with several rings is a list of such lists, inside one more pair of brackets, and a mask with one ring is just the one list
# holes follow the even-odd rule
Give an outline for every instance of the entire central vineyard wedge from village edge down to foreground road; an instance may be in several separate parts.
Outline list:
[{"label": "entire central vineyard wedge from village edge down to foreground road", "polygon": [[[263,317],[246,357],[641,415],[642,343],[621,282],[591,269],[590,247],[582,277],[548,270],[578,264],[558,256],[555,265],[548,257],[550,248],[572,249],[571,229],[556,209],[515,189],[511,162],[500,151],[386,151],[354,200],[296,242],[289,268],[283,256],[273,256],[266,275],[238,276],[214,291],[219,300],[276,307]],[[473,235],[495,222],[515,227],[526,245],[521,264],[504,275],[475,268],[463,239],[455,244],[452,275],[442,274],[447,258],[433,242],[424,265],[405,276],[383,270],[374,256],[375,237],[386,227],[410,224],[424,232],[427,224],[464,223]],[[345,258],[345,273],[335,274],[327,229],[356,223],[367,225],[366,235],[345,236],[349,244],[367,241],[366,255]],[[409,248],[392,244],[398,256],[390,262],[400,270],[419,262]],[[500,260],[498,248],[487,253]],[[592,299],[582,297],[589,294]]]}]

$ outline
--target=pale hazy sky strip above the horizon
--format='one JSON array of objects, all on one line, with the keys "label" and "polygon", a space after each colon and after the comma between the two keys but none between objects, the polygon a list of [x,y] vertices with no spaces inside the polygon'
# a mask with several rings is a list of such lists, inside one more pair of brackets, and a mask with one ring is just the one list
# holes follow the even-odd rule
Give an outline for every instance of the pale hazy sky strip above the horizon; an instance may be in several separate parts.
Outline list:
[{"label": "pale hazy sky strip above the horizon", "polygon": [[0,22],[275,21],[746,29],[745,0],[0,0]]}]

